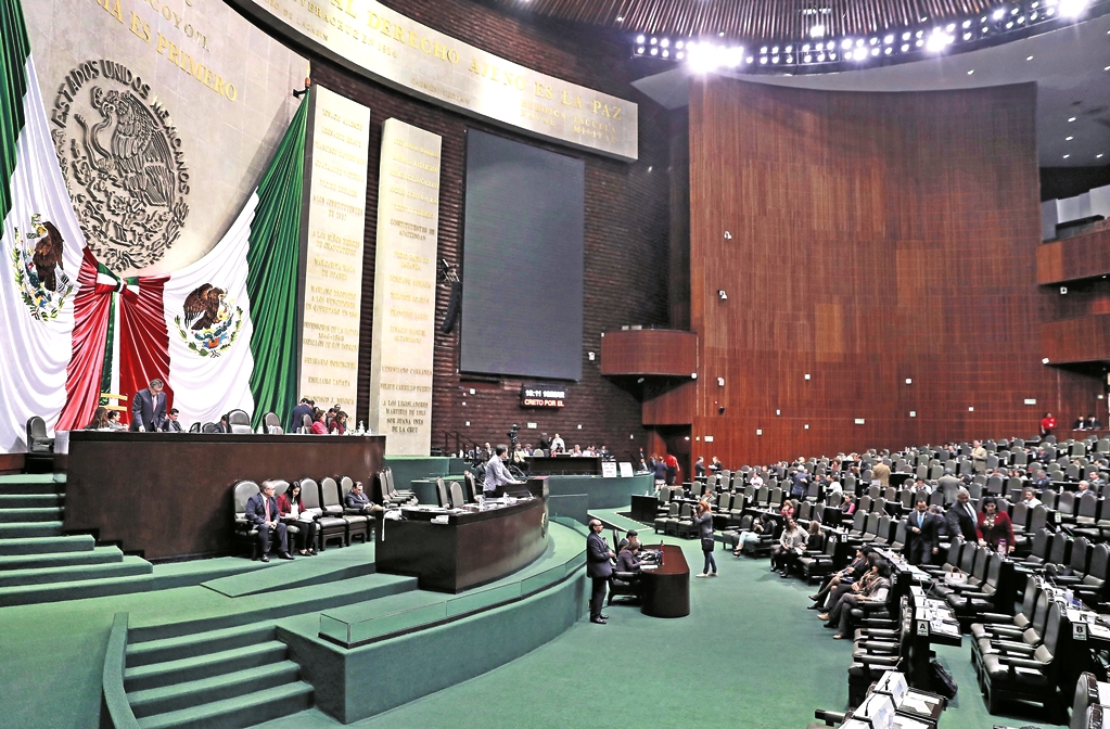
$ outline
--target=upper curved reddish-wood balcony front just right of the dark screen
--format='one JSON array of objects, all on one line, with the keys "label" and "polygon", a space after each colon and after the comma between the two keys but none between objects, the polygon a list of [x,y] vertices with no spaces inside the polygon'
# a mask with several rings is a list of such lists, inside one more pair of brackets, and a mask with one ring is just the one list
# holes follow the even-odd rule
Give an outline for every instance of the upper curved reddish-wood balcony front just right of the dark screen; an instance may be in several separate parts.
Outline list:
[{"label": "upper curved reddish-wood balcony front just right of the dark screen", "polygon": [[697,335],[677,330],[606,332],[603,375],[689,375],[697,372]]}]

